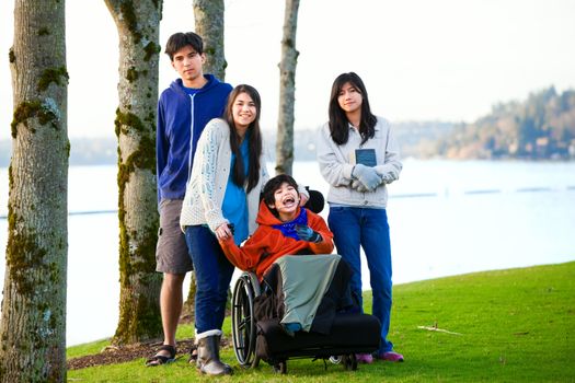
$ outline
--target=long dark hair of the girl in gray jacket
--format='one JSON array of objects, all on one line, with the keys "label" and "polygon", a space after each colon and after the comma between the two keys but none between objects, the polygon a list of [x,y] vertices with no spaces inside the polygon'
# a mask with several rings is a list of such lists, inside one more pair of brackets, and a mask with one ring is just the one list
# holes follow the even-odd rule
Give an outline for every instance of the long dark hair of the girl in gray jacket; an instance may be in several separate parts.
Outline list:
[{"label": "long dark hair of the girl in gray jacket", "polygon": [[355,72],[340,74],[332,85],[332,94],[330,96],[330,132],[332,140],[337,144],[344,144],[349,139],[349,128],[347,116],[340,107],[337,101],[340,92],[346,83],[350,83],[359,94],[361,94],[361,119],[359,121],[359,135],[361,135],[361,144],[376,135],[377,117],[371,113],[369,107],[369,100],[367,96],[366,85],[364,81]]}]

